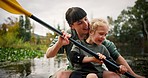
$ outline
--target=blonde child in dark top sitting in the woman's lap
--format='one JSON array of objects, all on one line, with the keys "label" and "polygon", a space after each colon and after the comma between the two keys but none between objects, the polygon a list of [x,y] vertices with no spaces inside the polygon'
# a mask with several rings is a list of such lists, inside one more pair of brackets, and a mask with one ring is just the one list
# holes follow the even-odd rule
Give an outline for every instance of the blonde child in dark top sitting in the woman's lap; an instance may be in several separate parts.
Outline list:
[{"label": "blonde child in dark top sitting in the woman's lap", "polygon": [[[93,19],[90,23],[88,38],[79,42],[96,52],[100,59],[110,58],[108,50],[102,45],[108,31],[109,26],[106,21],[103,19]],[[115,72],[105,70],[103,68],[103,61],[99,61],[75,45],[68,57],[70,58],[71,64],[74,66],[74,71],[70,78],[120,78]],[[122,73],[127,71],[123,65],[120,65],[119,67],[122,70]]]}]

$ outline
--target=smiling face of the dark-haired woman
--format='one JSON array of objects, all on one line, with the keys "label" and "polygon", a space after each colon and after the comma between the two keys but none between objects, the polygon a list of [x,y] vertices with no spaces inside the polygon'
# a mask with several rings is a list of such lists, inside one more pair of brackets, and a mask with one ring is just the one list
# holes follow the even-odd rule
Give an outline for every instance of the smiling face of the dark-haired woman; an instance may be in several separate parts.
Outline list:
[{"label": "smiling face of the dark-haired woman", "polygon": [[89,33],[89,21],[87,17],[84,17],[81,20],[74,22],[71,27],[72,29],[76,30],[79,37],[88,35]]}]

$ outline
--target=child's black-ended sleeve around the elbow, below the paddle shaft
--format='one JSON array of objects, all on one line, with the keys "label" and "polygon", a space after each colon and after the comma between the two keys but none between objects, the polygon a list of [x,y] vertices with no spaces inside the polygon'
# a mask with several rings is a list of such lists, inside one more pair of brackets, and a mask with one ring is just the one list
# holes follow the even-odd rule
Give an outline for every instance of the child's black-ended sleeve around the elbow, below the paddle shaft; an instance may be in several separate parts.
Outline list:
[{"label": "child's black-ended sleeve around the elbow, below the paddle shaft", "polygon": [[73,45],[73,48],[69,53],[71,63],[82,64],[84,57],[85,55],[80,53],[80,48]]}]

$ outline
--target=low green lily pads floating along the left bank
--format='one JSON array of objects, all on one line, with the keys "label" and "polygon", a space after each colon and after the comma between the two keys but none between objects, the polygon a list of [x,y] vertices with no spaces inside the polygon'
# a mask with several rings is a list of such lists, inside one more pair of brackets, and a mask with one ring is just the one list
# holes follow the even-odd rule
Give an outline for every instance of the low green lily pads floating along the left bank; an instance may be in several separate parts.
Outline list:
[{"label": "low green lily pads floating along the left bank", "polygon": [[20,61],[43,56],[43,52],[29,49],[0,48],[0,62]]}]

